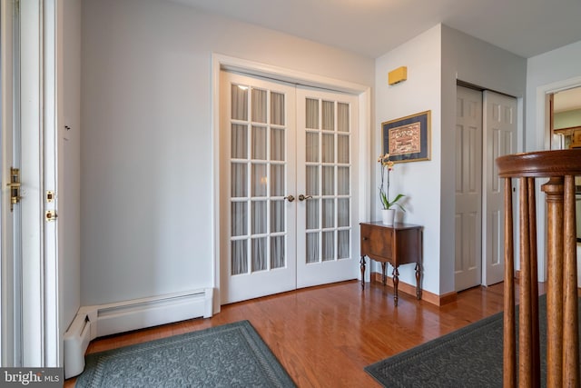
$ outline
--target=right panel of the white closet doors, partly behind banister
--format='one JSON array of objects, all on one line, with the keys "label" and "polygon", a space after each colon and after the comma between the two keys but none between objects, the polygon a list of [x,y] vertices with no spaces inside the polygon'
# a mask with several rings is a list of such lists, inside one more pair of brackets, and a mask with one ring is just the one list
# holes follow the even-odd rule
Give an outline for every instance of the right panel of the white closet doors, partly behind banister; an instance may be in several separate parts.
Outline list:
[{"label": "right panel of the white closet doors, partly behind banister", "polygon": [[485,91],[482,283],[497,284],[504,279],[504,184],[498,178],[498,156],[517,152],[517,99]]}]

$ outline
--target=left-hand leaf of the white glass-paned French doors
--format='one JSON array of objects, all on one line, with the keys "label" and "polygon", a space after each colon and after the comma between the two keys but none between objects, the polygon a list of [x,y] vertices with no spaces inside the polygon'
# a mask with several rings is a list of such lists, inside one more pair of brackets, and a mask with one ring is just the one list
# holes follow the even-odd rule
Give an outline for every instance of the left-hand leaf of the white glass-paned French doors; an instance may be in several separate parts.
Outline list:
[{"label": "left-hand leaf of the white glass-paned French doors", "polygon": [[292,85],[221,74],[222,303],[296,288],[295,101]]}]

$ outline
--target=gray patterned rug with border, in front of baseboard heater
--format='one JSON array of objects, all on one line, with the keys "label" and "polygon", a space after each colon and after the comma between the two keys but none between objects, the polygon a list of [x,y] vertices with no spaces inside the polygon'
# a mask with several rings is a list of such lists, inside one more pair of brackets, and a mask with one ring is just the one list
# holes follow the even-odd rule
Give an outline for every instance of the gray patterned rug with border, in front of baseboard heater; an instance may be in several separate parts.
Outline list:
[{"label": "gray patterned rug with border, in front of baseboard heater", "polygon": [[248,321],[85,356],[76,387],[294,387]]}]

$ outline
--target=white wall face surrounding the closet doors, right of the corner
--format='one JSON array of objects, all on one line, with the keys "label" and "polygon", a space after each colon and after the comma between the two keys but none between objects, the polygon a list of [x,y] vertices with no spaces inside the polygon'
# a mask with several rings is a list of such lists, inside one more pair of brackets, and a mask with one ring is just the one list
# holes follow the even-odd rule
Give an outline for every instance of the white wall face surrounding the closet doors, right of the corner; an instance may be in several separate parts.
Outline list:
[{"label": "white wall face surrounding the closet doors, right of the corner", "polygon": [[446,25],[442,26],[442,179],[440,293],[455,289],[456,90],[458,81],[517,97],[517,151],[522,150],[527,61]]}]

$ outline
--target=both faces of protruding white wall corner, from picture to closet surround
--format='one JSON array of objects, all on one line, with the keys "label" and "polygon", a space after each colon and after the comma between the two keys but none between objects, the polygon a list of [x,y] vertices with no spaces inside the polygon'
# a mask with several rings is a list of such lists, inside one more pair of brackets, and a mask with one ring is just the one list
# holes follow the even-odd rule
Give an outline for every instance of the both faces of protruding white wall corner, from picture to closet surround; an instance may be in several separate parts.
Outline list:
[{"label": "both faces of protruding white wall corner, from picture to closet surround", "polygon": [[[388,72],[401,65],[408,66],[408,80],[387,85]],[[405,221],[424,225],[422,285],[438,295],[455,290],[454,129],[458,80],[519,98],[519,134],[522,134],[522,98],[526,90],[524,58],[447,25],[436,25],[376,61],[377,127],[373,137],[376,154],[381,150],[381,122],[432,111],[431,160],[396,164],[392,189],[393,193],[401,192],[409,197]],[[522,142],[518,143],[520,147]],[[376,171],[377,186],[377,165]],[[375,208],[379,209],[377,198],[374,201]],[[399,272],[402,281],[414,284],[411,266]]]}]

